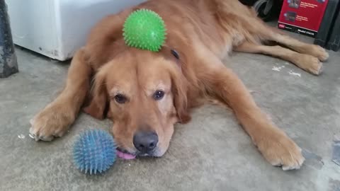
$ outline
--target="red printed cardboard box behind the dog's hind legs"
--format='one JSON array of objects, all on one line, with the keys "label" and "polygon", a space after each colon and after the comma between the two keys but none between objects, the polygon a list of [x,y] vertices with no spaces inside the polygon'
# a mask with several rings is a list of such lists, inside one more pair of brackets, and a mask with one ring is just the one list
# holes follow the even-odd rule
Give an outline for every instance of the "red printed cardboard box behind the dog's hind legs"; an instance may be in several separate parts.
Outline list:
[{"label": "red printed cardboard box behind the dog's hind legs", "polygon": [[328,0],[284,0],[278,28],[315,37]]}]

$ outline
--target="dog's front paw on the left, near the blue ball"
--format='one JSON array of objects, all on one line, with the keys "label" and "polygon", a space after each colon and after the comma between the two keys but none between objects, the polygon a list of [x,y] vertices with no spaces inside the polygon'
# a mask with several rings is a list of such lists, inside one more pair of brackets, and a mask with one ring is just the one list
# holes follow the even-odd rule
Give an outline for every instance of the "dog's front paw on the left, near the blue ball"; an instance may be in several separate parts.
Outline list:
[{"label": "dog's front paw on the left, near the blue ball", "polygon": [[62,137],[72,122],[74,115],[65,103],[51,103],[30,120],[30,137],[35,141],[52,141],[54,137]]}]

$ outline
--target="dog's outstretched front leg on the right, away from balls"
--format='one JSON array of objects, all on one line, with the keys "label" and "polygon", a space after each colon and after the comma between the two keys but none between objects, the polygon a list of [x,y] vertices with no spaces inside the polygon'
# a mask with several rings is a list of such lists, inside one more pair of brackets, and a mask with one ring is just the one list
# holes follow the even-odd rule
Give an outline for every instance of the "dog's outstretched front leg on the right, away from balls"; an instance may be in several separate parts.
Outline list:
[{"label": "dog's outstretched front leg on the right, away from balls", "polygon": [[[220,62],[217,58],[213,60]],[[283,170],[300,168],[305,160],[300,147],[268,120],[236,74],[223,66],[222,62],[202,63],[198,70],[198,78],[208,94],[232,108],[242,127],[269,163],[282,166]]]}]

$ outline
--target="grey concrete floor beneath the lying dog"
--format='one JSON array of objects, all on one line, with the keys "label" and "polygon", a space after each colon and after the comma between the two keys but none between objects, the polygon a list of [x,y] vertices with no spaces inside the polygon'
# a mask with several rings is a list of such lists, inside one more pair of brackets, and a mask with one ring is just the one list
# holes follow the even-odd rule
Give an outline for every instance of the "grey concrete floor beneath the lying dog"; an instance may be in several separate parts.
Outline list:
[{"label": "grey concrete floor beneath the lying dog", "polygon": [[232,112],[205,105],[177,127],[164,157],[118,160],[107,173],[90,176],[74,168],[72,144],[81,130],[109,129],[111,122],[81,114],[61,139],[30,139],[28,121],[60,91],[69,62],[16,51],[20,73],[0,79],[0,190],[340,190],[340,166],[331,161],[340,135],[340,52],[329,52],[321,76],[263,55],[234,53],[226,61],[301,146],[300,170],[271,166]]}]

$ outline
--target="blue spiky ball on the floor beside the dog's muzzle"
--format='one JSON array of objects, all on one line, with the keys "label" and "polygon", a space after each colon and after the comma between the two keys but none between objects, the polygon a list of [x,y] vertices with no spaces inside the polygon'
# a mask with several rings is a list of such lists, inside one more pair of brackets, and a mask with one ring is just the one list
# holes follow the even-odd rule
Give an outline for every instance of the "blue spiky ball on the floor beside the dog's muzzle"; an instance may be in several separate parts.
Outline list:
[{"label": "blue spiky ball on the floor beside the dog's muzzle", "polygon": [[90,175],[103,173],[115,162],[116,147],[113,137],[106,131],[90,129],[82,132],[74,142],[74,164]]}]

